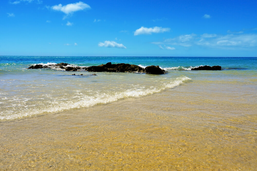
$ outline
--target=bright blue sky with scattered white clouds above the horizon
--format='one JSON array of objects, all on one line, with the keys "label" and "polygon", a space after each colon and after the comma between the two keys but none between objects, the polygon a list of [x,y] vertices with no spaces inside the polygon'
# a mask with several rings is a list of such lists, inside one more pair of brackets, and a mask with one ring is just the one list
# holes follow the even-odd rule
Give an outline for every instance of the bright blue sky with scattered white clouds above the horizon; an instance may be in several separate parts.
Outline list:
[{"label": "bright blue sky with scattered white clouds above the horizon", "polygon": [[257,1],[1,0],[0,55],[257,57]]}]

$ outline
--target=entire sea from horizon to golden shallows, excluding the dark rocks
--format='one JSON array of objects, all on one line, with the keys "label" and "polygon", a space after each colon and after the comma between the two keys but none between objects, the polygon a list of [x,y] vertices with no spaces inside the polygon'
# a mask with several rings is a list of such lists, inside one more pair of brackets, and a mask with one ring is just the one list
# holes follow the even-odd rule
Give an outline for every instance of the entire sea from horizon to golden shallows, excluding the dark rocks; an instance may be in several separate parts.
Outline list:
[{"label": "entire sea from horizon to golden shallows, excluding the dark rocks", "polygon": [[256,111],[257,57],[0,56],[0,170],[256,170]]}]

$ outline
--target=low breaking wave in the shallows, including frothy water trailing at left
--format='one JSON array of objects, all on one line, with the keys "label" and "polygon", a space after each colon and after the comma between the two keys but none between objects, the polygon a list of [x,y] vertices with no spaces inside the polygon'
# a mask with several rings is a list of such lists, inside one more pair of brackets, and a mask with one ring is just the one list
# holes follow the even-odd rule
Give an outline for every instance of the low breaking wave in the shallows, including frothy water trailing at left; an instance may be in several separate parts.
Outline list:
[{"label": "low breaking wave in the shallows, including frothy water trailing at left", "polygon": [[145,87],[134,87],[132,89],[122,91],[97,91],[94,95],[83,95],[81,93],[70,95],[65,99],[56,99],[51,95],[45,95],[49,100],[40,100],[40,104],[27,105],[31,101],[37,101],[39,99],[27,98],[24,100],[22,97],[16,97],[15,99],[4,99],[6,104],[12,104],[7,106],[4,110],[0,111],[0,119],[15,119],[25,116],[40,115],[43,113],[60,112],[63,110],[69,110],[73,108],[86,108],[97,104],[106,104],[109,102],[117,101],[123,98],[130,97],[142,97],[153,93],[158,93],[167,88],[174,88],[179,86],[183,82],[191,80],[186,76],[182,76],[176,79],[167,80],[161,85],[151,86],[150,88]]}]

